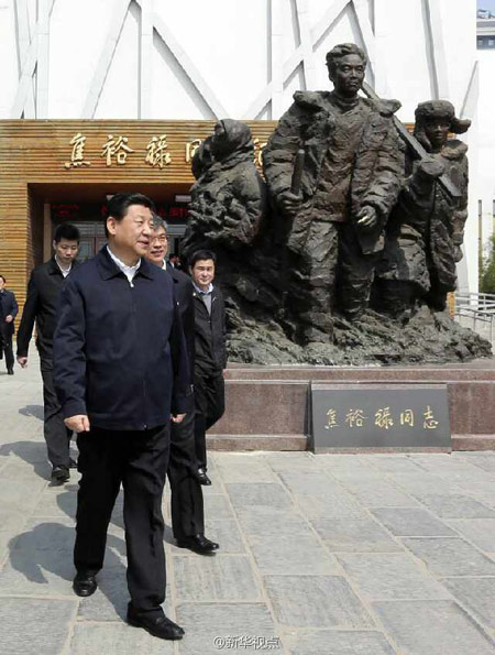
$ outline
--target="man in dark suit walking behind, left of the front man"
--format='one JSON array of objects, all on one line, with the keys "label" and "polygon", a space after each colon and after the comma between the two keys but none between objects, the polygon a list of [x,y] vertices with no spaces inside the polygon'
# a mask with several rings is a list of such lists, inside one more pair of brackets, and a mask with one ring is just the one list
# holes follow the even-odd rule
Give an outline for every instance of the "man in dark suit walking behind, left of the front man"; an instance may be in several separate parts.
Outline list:
[{"label": "man in dark suit walking behind, left of the front man", "polygon": [[57,227],[53,238],[54,256],[31,273],[18,330],[18,362],[25,369],[36,323],[36,348],[40,352],[40,370],[43,378],[43,433],[52,463],[52,480],[58,484],[69,479],[69,468],[74,468],[76,462],[69,457],[73,433],[64,425],[61,403],[53,385],[53,334],[62,286],[77,265],[75,260],[79,251],[79,230],[75,226],[63,223]]}]

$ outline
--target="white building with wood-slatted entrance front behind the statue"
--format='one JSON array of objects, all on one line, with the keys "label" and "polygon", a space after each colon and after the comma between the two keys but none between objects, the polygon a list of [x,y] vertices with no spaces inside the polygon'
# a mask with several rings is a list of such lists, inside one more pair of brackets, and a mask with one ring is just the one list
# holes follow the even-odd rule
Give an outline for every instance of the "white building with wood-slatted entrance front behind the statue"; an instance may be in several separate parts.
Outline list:
[{"label": "white building with wood-slatted entrance front behind the statue", "polygon": [[[473,120],[459,277],[464,291],[476,291],[475,30],[475,0],[0,0],[0,178],[9,161],[23,172],[20,196],[10,190],[12,166],[3,190],[0,179],[0,193],[10,194],[0,198],[0,268],[22,293],[31,265],[47,255],[53,226],[68,216],[61,211],[85,223],[97,247],[106,196],[130,186],[145,188],[166,215],[187,193],[184,149],[211,130],[202,121],[278,119],[295,90],[329,87],[326,53],[353,41],[367,53],[367,81],[402,100],[405,122],[431,98],[450,99]],[[261,146],[273,125],[252,124]],[[90,164],[64,160],[74,156],[77,134],[86,137],[81,156],[91,155]],[[125,162],[107,165],[110,134],[128,138]],[[164,134],[173,163],[146,165],[150,142]]]}]

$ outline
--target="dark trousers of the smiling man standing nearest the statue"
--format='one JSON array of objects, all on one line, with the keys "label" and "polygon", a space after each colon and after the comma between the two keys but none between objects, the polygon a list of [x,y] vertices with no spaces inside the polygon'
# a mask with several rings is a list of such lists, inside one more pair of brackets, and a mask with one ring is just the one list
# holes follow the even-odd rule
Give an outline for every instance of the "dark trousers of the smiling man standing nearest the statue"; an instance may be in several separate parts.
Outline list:
[{"label": "dark trousers of the smiling man standing nearest the statue", "polygon": [[207,375],[195,371],[195,441],[198,468],[207,468],[206,432],[226,411],[226,383],[223,373]]}]

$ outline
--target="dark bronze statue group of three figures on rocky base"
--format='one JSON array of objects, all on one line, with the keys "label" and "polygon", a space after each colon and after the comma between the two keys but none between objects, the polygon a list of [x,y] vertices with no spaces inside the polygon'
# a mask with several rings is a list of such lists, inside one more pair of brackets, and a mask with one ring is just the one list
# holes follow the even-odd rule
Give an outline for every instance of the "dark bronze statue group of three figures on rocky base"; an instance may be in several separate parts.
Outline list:
[{"label": "dark bronze statue group of three figures on rocky base", "polygon": [[233,331],[272,324],[302,347],[376,314],[443,312],[468,217],[468,146],[451,133],[470,121],[448,100],[420,102],[405,142],[400,103],[361,92],[359,46],[337,45],[327,67],[333,90],[294,95],[264,179],[248,125],[216,125],[195,156],[185,239],[186,252],[219,251]]}]

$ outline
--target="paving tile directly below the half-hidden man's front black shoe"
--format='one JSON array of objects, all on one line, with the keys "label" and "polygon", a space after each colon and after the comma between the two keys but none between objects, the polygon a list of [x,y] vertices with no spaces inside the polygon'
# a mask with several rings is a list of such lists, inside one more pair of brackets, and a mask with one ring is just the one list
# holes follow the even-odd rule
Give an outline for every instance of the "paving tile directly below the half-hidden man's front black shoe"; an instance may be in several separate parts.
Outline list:
[{"label": "paving tile directly below the half-hidden man's front black shoe", "polygon": [[260,589],[250,559],[242,555],[174,556],[177,596],[182,601],[256,601]]}]

